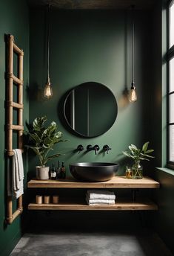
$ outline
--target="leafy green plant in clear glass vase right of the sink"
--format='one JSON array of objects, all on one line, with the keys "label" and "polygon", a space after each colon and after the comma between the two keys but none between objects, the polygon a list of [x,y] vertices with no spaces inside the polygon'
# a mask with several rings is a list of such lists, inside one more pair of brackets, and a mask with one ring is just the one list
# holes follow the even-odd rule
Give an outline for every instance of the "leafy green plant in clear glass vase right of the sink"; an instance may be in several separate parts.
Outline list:
[{"label": "leafy green plant in clear glass vase right of the sink", "polygon": [[130,151],[129,152],[123,151],[125,156],[128,156],[134,160],[134,164],[132,167],[132,179],[142,179],[143,177],[143,167],[140,164],[141,160],[150,161],[150,159],[154,158],[154,156],[149,155],[154,150],[148,150],[148,146],[149,146],[149,141],[144,143],[141,149],[139,149],[133,144],[130,144],[129,146]]}]

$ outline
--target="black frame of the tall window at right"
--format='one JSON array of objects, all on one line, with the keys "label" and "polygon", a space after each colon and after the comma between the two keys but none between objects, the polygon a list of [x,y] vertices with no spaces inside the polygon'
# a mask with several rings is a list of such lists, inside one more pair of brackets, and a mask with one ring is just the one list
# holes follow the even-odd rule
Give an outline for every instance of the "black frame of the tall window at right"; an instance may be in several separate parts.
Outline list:
[{"label": "black frame of the tall window at right", "polygon": [[174,95],[174,90],[170,92],[170,60],[174,59],[174,44],[170,47],[170,7],[174,0],[168,1],[167,4],[167,167],[174,169],[174,161],[170,161],[170,95]]}]

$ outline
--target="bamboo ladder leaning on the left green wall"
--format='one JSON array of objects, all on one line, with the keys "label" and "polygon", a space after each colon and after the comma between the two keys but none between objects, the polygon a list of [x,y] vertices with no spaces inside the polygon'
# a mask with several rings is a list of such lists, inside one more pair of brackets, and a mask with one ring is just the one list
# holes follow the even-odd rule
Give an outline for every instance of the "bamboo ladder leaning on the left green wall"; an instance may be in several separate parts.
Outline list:
[{"label": "bamboo ladder leaning on the left green wall", "polygon": [[[18,76],[13,74],[13,54],[18,56]],[[24,52],[14,42],[12,35],[7,35],[7,156],[13,156],[13,130],[18,134],[18,148],[22,150],[23,140],[23,57]],[[18,86],[18,102],[13,101],[13,83]],[[18,120],[16,125],[13,124],[13,108],[18,111]],[[23,150],[22,150],[23,152]],[[18,206],[13,213],[12,196],[7,196],[7,224],[13,223],[13,220],[22,213],[22,196],[19,197]]]}]

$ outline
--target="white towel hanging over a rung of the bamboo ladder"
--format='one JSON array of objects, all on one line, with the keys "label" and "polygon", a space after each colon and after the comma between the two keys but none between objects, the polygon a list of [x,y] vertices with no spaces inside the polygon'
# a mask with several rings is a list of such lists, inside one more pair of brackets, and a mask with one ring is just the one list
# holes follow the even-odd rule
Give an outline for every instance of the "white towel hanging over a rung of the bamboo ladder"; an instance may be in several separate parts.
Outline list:
[{"label": "white towel hanging over a rung of the bamboo ladder", "polygon": [[13,150],[13,165],[12,165],[12,179],[8,182],[8,195],[15,196],[16,199],[19,198],[24,193],[24,167],[21,155],[21,150]]}]

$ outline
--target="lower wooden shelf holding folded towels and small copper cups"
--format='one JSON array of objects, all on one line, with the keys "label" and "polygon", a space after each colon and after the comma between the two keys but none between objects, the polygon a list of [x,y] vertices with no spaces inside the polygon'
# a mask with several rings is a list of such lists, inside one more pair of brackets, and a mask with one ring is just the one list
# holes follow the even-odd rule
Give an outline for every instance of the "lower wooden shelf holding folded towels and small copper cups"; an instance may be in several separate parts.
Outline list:
[{"label": "lower wooden shelf holding folded towels and small copper cups", "polygon": [[59,204],[30,203],[29,210],[69,210],[69,211],[156,211],[158,206],[149,199],[138,199],[132,202],[128,199],[117,199],[115,205],[87,205],[82,199],[62,199]]}]

